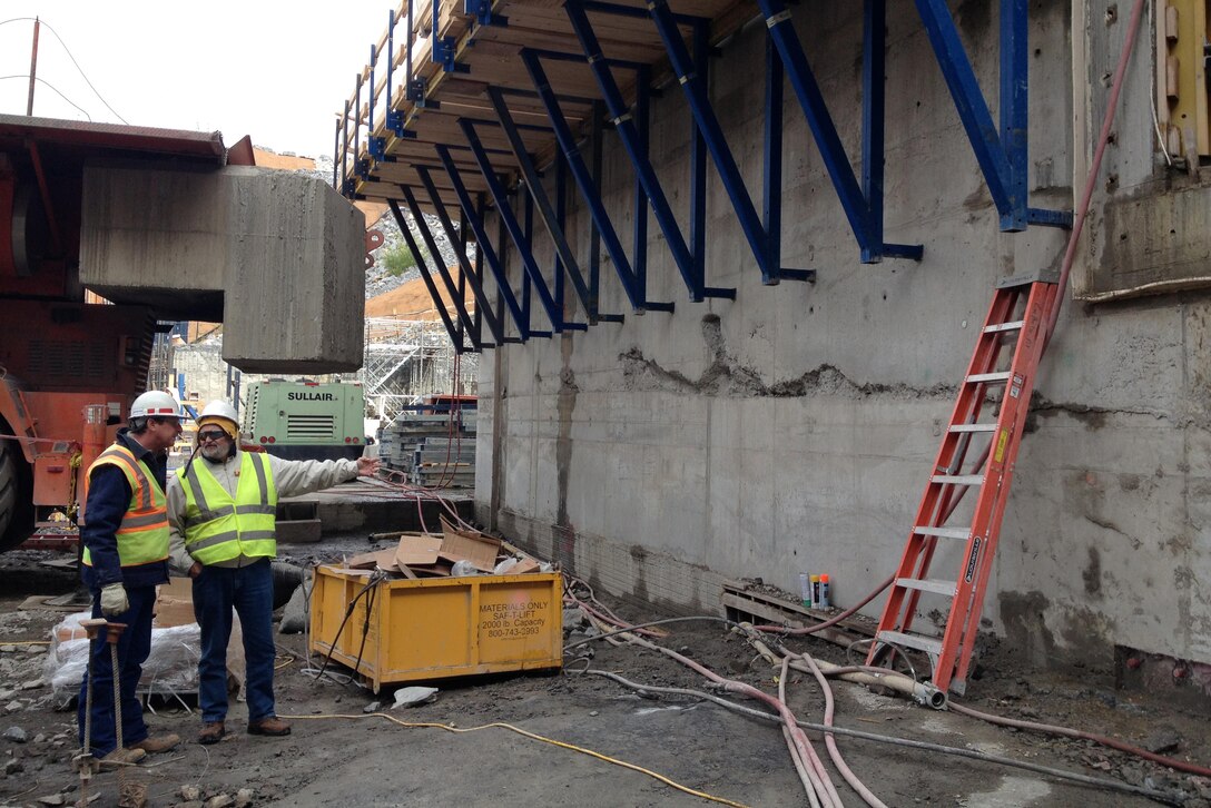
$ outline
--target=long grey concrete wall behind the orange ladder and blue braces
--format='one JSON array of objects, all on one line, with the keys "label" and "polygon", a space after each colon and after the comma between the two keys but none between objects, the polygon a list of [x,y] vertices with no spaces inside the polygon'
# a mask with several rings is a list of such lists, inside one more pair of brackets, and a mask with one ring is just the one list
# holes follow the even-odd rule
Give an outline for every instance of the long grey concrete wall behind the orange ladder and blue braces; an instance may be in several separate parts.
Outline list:
[{"label": "long grey concrete wall behind the orange ladder and blue braces", "polygon": [[[957,11],[993,109],[995,5]],[[1087,137],[1087,110],[1073,102],[1084,74],[1073,80],[1071,11],[1031,5],[1034,207],[1072,208],[1072,144]],[[650,297],[677,302],[675,314],[627,313],[621,326],[486,357],[476,494],[486,521],[613,592],[677,609],[717,612],[724,578],[798,591],[800,572],[830,573],[834,602],[848,606],[894,571],[994,282],[1057,268],[1067,234],[998,230],[912,5],[890,4],[889,13],[886,237],[924,243],[924,259],[859,263],[788,92],[784,265],[816,269],[819,282],[761,285],[708,170],[707,283],[734,286],[736,300],[687,303],[653,222]],[[1090,15],[1107,27],[1104,7]],[[796,7],[794,21],[842,138],[859,155],[861,8],[813,4],[810,13]],[[1081,41],[1085,28],[1081,21]],[[731,41],[712,81],[758,195],[764,36],[757,25]],[[1142,36],[1147,53],[1150,34]],[[1107,59],[1089,62],[1090,75]],[[1152,79],[1146,63],[1135,70],[1147,71],[1129,87],[1138,111],[1136,96],[1147,97]],[[672,85],[654,103],[653,156],[683,230],[687,121]],[[1152,171],[1150,126],[1146,114],[1129,116],[1115,147],[1142,144],[1143,173]],[[1081,165],[1087,151],[1078,150]],[[607,165],[607,204],[627,234],[632,172],[612,134]],[[582,206],[570,230],[584,258]],[[626,313],[610,271],[607,260],[602,310]],[[1211,660],[1209,339],[1203,294],[1066,305],[985,608],[986,626],[1029,660],[1107,666],[1117,644]],[[935,571],[948,577],[957,565],[952,549]],[[939,606],[923,601],[923,620]]]}]

